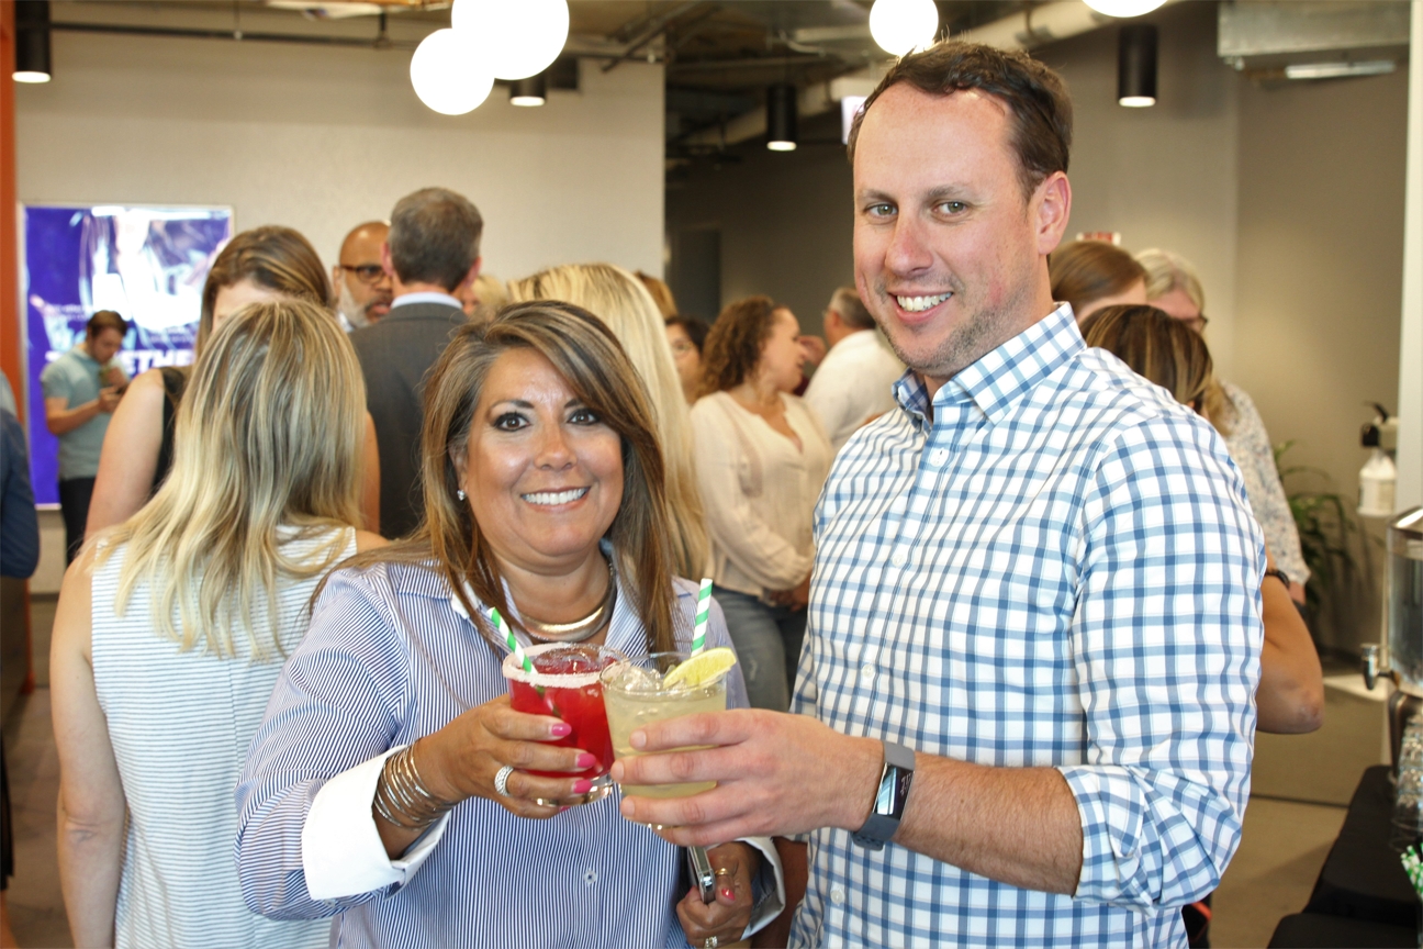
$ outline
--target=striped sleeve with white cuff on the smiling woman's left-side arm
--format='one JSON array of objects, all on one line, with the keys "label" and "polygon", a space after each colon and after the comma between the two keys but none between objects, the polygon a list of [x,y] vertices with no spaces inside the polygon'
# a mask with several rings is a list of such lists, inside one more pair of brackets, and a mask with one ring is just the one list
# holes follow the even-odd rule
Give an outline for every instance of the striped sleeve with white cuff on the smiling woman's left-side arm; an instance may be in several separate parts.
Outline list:
[{"label": "striped sleeve with white cuff on the smiling woman's left-side arm", "polygon": [[238,875],[248,908],[263,916],[330,916],[394,892],[443,832],[444,821],[394,862],[376,832],[370,805],[408,701],[408,657],[369,576],[332,576],[236,788]]}]

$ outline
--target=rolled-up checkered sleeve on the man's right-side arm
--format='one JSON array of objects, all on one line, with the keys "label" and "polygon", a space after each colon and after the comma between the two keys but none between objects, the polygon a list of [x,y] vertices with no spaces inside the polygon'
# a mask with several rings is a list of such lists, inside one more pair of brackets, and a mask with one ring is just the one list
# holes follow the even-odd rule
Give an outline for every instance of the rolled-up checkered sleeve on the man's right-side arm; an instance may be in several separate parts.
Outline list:
[{"label": "rolled-up checkered sleeve on the man's right-side arm", "polygon": [[1204,424],[1158,417],[1109,445],[1083,507],[1072,645],[1086,761],[1079,899],[1180,906],[1211,892],[1249,797],[1264,545]]}]

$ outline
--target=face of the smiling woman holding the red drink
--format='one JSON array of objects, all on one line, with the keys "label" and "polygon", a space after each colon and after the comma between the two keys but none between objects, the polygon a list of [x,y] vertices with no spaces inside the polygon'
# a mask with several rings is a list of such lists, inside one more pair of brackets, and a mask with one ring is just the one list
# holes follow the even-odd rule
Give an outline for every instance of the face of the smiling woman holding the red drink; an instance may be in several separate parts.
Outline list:
[{"label": "face of the smiling woman holding the red drink", "polygon": [[622,504],[622,440],[531,349],[494,363],[455,467],[495,556],[525,571],[576,569]]}]

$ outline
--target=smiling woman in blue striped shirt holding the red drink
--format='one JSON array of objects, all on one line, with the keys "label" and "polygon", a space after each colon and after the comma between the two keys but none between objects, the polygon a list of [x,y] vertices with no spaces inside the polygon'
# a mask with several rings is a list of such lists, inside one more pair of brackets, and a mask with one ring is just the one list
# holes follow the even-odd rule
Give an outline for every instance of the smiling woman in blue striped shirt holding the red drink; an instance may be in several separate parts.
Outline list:
[{"label": "smiling woman in blue striped shirt holding the red drink", "polygon": [[[424,524],[334,572],[238,785],[238,871],[263,915],[336,918],[342,946],[717,946],[783,903],[768,839],[680,851],[596,797],[588,750],[509,704],[509,652],[686,649],[646,390],[568,303],[461,327],[431,371]],[[713,609],[707,646],[730,643]],[[733,669],[730,706],[746,704]],[[566,773],[541,777],[532,771]],[[596,800],[589,800],[591,797]]]}]

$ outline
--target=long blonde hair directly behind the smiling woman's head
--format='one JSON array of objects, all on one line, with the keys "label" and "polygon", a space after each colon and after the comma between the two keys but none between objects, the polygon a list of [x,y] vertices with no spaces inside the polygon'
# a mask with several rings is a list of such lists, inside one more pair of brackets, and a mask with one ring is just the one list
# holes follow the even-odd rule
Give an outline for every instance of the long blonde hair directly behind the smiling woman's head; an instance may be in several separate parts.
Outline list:
[{"label": "long blonde hair directly behind the smiling woman's head", "polygon": [[613,332],[656,414],[667,479],[667,508],[677,576],[700,579],[712,562],[702,495],[692,455],[692,417],[662,312],[646,286],[612,263],[569,263],[509,282],[514,303],[562,300],[581,306]]}]

